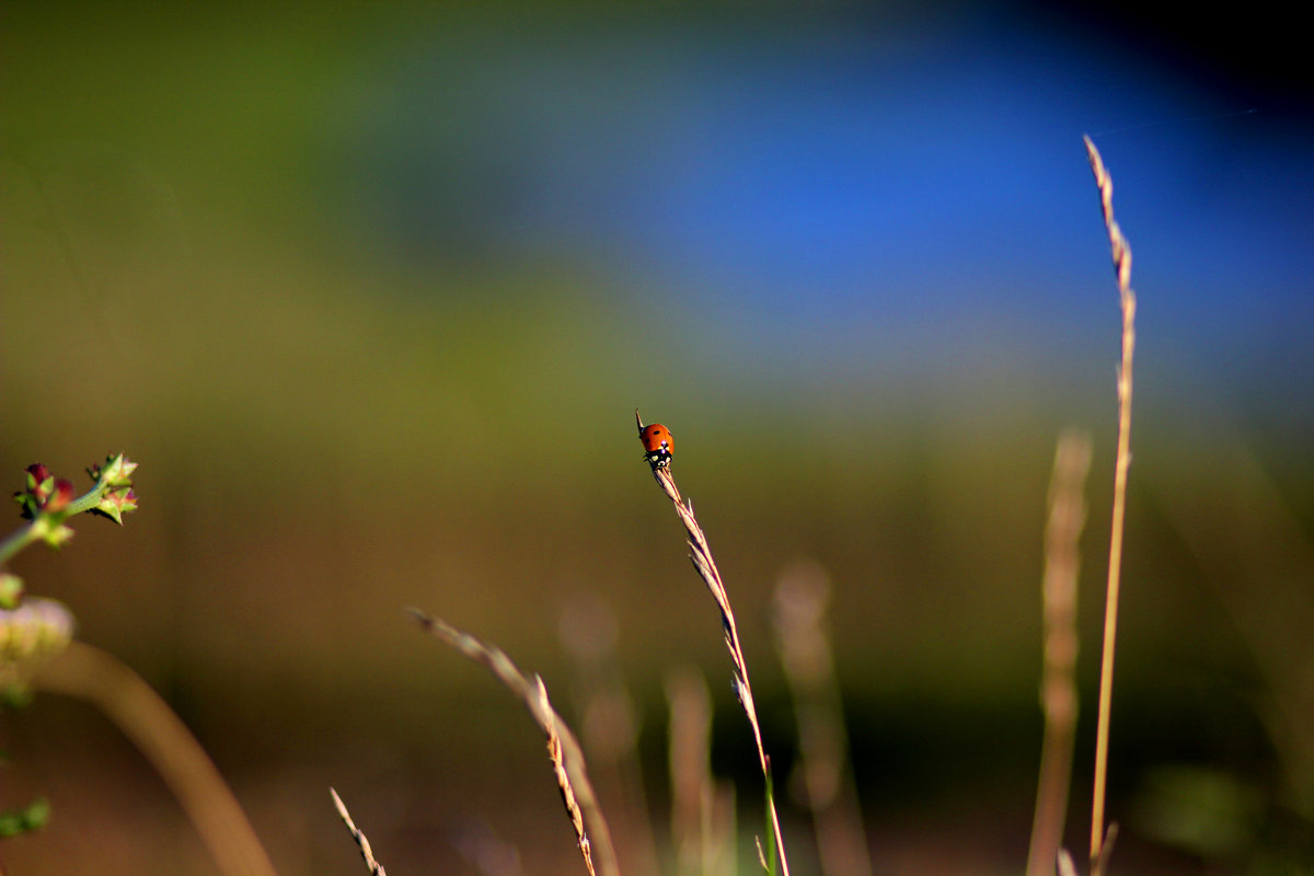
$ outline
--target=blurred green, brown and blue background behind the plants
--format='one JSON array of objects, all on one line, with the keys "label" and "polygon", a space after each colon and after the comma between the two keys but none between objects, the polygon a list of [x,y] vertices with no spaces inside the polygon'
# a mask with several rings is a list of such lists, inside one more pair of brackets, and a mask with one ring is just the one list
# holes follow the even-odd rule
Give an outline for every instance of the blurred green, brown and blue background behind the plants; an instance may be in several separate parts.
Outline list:
[{"label": "blurred green, brown and blue background behind the plants", "polygon": [[[754,754],[636,406],[675,435],[782,774],[771,592],[800,561],[830,577],[876,873],[1022,867],[1046,483],[1058,432],[1091,431],[1080,854],[1118,357],[1083,133],[1141,294],[1116,862],[1309,865],[1293,22],[133,1],[3,21],[0,471],[17,490],[29,462],[72,477],[124,450],[142,500],[13,570],[168,697],[285,876],[363,872],[330,784],[394,872],[497,872],[470,852],[491,837],[524,872],[578,871],[539,732],[405,605],[501,644],[573,718],[578,655],[602,653],[637,732],[603,805],[625,854],[645,800],[664,864],[664,684],[699,670],[752,872]],[[3,734],[0,805],[54,806],[5,844],[14,873],[214,872],[99,713],[42,696]]]}]

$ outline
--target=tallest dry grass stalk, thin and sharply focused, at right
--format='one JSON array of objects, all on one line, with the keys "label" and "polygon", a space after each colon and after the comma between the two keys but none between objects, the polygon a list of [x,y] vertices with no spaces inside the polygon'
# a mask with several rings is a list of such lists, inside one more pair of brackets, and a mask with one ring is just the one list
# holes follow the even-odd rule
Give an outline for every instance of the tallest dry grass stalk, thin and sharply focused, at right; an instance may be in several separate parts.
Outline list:
[{"label": "tallest dry grass stalk, thin and sharply focused, at right", "polygon": [[1109,231],[1113,271],[1122,303],[1122,364],[1118,368],[1118,456],[1113,474],[1113,521],[1109,537],[1109,583],[1104,609],[1104,657],[1100,663],[1100,712],[1095,743],[1095,796],[1091,806],[1091,872],[1100,876],[1108,855],[1102,854],[1104,795],[1109,771],[1109,711],[1113,700],[1113,649],[1118,626],[1118,588],[1122,575],[1122,531],[1126,516],[1127,468],[1131,465],[1131,355],[1135,348],[1137,296],[1131,290],[1131,247],[1113,218],[1113,180],[1089,137],[1085,151],[1095,184],[1100,189],[1104,226]]}]

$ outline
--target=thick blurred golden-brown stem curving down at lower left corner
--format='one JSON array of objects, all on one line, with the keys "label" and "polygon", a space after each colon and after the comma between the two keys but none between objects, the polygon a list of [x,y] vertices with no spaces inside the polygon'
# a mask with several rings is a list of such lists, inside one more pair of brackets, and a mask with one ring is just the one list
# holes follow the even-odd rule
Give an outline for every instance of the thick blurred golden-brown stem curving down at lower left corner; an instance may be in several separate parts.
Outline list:
[{"label": "thick blurred golden-brown stem curving down at lower left corner", "polygon": [[177,797],[225,876],[276,876],[237,797],[191,730],[142,676],[83,642],[37,675],[39,688],[85,700],[133,741]]}]

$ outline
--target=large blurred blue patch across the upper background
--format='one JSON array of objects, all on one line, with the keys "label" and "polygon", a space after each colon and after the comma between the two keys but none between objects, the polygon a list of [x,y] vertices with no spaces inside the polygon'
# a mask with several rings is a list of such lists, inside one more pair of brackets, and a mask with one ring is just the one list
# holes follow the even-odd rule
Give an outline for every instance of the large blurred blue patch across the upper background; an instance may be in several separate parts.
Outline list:
[{"label": "large blurred blue patch across the upper background", "polygon": [[407,45],[367,89],[357,160],[410,257],[566,252],[784,360],[976,320],[1062,339],[1116,323],[1089,133],[1146,327],[1314,376],[1314,123],[1152,43],[983,14]]}]

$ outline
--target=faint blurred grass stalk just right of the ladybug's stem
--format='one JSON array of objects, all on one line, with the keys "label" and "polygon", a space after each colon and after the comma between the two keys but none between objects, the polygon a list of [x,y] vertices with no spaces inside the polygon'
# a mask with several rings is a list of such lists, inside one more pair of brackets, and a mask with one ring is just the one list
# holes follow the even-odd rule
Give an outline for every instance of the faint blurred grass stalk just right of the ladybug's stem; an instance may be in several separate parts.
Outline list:
[{"label": "faint blurred grass stalk just right of the ladybug's stem", "polygon": [[775,642],[799,724],[799,768],[823,876],[871,876],[849,737],[827,632],[830,579],[815,562],[786,569],[775,588]]}]

